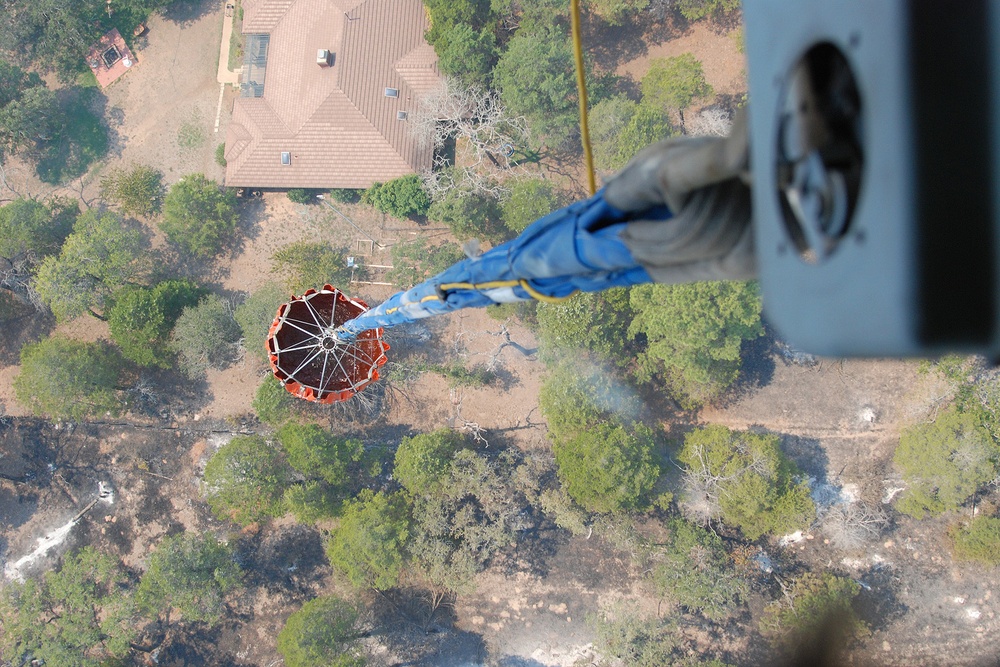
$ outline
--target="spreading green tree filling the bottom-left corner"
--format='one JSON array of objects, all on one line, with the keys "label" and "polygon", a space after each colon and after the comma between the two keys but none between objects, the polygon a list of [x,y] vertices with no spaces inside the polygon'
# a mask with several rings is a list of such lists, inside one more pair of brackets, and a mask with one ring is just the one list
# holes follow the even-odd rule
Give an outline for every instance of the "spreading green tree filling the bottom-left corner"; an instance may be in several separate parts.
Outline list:
[{"label": "spreading green tree filling the bottom-left corner", "polygon": [[41,581],[0,589],[0,659],[5,664],[100,667],[124,658],[136,631],[128,571],[84,547]]}]

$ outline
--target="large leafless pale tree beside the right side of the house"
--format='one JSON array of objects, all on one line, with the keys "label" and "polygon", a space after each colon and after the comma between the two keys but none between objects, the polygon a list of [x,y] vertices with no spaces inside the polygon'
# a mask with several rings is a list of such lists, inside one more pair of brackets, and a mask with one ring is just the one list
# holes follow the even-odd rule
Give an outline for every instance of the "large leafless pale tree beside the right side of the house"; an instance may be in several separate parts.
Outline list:
[{"label": "large leafless pale tree beside the right side of the house", "polygon": [[[418,144],[434,148],[433,169],[423,174],[431,197],[458,188],[469,194],[502,199],[507,188],[498,180],[504,172],[519,171],[515,148],[528,139],[528,126],[512,116],[495,93],[445,79],[424,96],[409,118]],[[451,164],[444,147],[455,142]]]}]

